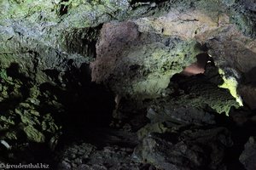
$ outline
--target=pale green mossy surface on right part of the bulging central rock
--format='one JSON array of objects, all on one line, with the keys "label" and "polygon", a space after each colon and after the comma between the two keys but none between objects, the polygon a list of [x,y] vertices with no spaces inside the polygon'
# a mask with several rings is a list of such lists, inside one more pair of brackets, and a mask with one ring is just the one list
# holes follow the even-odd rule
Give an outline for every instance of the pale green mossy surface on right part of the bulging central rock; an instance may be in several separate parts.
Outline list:
[{"label": "pale green mossy surface on right part of the bulging central rock", "polygon": [[138,79],[132,77],[133,80],[127,79],[125,86],[131,84],[132,94],[139,98],[157,97],[163,89],[167,88],[174,74],[195,62],[195,56],[201,53],[197,45],[195,41],[179,42],[175,48],[171,49],[162,47],[159,43],[152,43],[133,50],[128,54],[128,58],[134,60],[133,56],[141,56],[136,61],[143,65],[143,70],[147,70],[148,75],[142,75]]}]

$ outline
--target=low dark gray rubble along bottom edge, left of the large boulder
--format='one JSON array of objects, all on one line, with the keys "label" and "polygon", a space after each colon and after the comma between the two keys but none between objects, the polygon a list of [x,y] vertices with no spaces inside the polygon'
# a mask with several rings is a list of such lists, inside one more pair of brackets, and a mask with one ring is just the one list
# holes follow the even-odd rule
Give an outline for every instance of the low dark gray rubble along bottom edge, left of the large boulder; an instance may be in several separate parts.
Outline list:
[{"label": "low dark gray rubble along bottom edge, left of the large boulder", "polygon": [[150,164],[141,164],[132,161],[131,148],[123,148],[117,145],[105,146],[102,149],[96,149],[91,144],[72,144],[64,149],[58,159],[60,162],[58,169],[156,169]]}]

